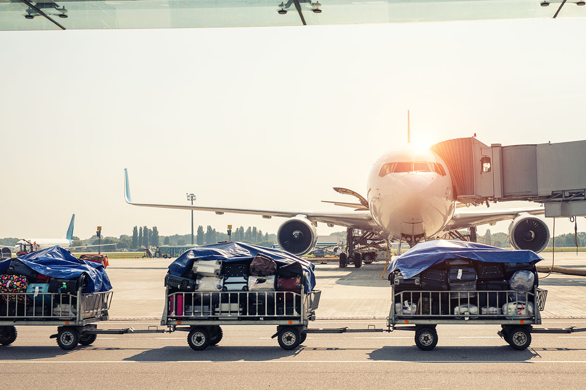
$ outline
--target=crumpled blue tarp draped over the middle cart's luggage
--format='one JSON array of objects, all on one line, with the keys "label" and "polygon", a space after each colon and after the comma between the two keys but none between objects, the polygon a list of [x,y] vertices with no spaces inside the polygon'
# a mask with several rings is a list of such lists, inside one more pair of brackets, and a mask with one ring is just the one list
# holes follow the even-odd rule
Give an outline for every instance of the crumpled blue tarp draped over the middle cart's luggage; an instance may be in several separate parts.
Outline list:
[{"label": "crumpled blue tarp draped over the middle cart's luggage", "polygon": [[203,245],[183,252],[177,260],[169,265],[169,273],[176,276],[185,274],[192,267],[193,260],[222,260],[225,263],[234,263],[236,261],[253,260],[254,256],[258,253],[272,258],[277,265],[291,264],[294,262],[301,263],[301,267],[305,273],[305,292],[314,289],[314,264],[280,249],[265,248],[240,242]]}]

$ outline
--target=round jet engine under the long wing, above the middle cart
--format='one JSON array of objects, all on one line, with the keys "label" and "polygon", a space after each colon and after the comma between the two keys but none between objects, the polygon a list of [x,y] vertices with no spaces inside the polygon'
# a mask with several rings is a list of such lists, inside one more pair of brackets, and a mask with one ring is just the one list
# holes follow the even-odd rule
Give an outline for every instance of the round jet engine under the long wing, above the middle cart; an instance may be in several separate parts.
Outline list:
[{"label": "round jet engine under the long wing, above the middle cart", "polygon": [[277,230],[277,243],[282,250],[302,256],[314,249],[318,242],[318,231],[307,218],[289,218]]}]

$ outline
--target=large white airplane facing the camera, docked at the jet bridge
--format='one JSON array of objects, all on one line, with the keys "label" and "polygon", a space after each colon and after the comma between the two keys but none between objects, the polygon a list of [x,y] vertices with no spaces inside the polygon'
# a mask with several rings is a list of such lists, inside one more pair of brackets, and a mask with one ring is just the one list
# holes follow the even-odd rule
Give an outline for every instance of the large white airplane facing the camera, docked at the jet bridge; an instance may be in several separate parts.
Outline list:
[{"label": "large white airplane facing the camera, docked at the jet bridge", "polygon": [[534,217],[544,214],[543,207],[459,210],[464,205],[456,202],[454,184],[447,167],[437,153],[429,149],[420,150],[413,144],[383,154],[374,162],[368,175],[367,198],[349,189],[334,188],[341,194],[355,196],[359,202],[328,203],[354,208],[352,212],[135,203],[130,195],[127,168],[124,169],[124,198],[134,206],[287,218],[277,230],[277,243],[281,249],[297,256],[309,253],[315,247],[318,222],[330,227],[344,226],[348,232],[348,249],[340,256],[353,260],[355,267],[362,265],[362,259],[353,251],[353,243],[360,241],[355,240],[354,229],[362,230],[363,234],[370,234],[371,237],[376,234],[385,240],[402,241],[413,246],[450,232],[461,229],[473,229],[475,232],[477,225],[512,219],[509,226],[512,247],[536,252],[545,249],[550,240],[549,229],[543,220]]}]

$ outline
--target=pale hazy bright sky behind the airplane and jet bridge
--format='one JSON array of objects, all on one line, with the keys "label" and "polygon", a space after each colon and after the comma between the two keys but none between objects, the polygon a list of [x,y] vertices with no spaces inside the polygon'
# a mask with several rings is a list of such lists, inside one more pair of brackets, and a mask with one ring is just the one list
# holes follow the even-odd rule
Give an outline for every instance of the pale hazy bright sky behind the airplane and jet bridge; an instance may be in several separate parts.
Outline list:
[{"label": "pale hazy bright sky behind the airplane and jet bridge", "polygon": [[[132,200],[337,210],[411,137],[586,139],[586,19],[0,32],[0,237],[190,233]],[[535,203],[503,203],[502,207]],[[283,221],[195,212],[195,225]],[[547,220],[551,227],[551,219]],[[505,232],[509,222],[490,227]],[[585,230],[586,219],[578,220]],[[556,220],[556,234],[573,232]],[[343,230],[319,224],[319,234]],[[479,227],[483,234],[486,226]]]}]

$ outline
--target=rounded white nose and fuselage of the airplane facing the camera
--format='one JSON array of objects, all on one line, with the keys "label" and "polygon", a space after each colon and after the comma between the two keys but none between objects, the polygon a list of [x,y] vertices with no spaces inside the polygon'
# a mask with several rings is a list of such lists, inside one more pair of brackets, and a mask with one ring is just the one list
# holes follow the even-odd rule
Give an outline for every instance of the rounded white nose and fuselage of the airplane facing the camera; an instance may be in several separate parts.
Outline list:
[{"label": "rounded white nose and fuselage of the airplane facing the camera", "polygon": [[375,161],[367,200],[374,221],[388,238],[410,244],[442,232],[455,210],[447,165],[437,154],[413,147]]}]

